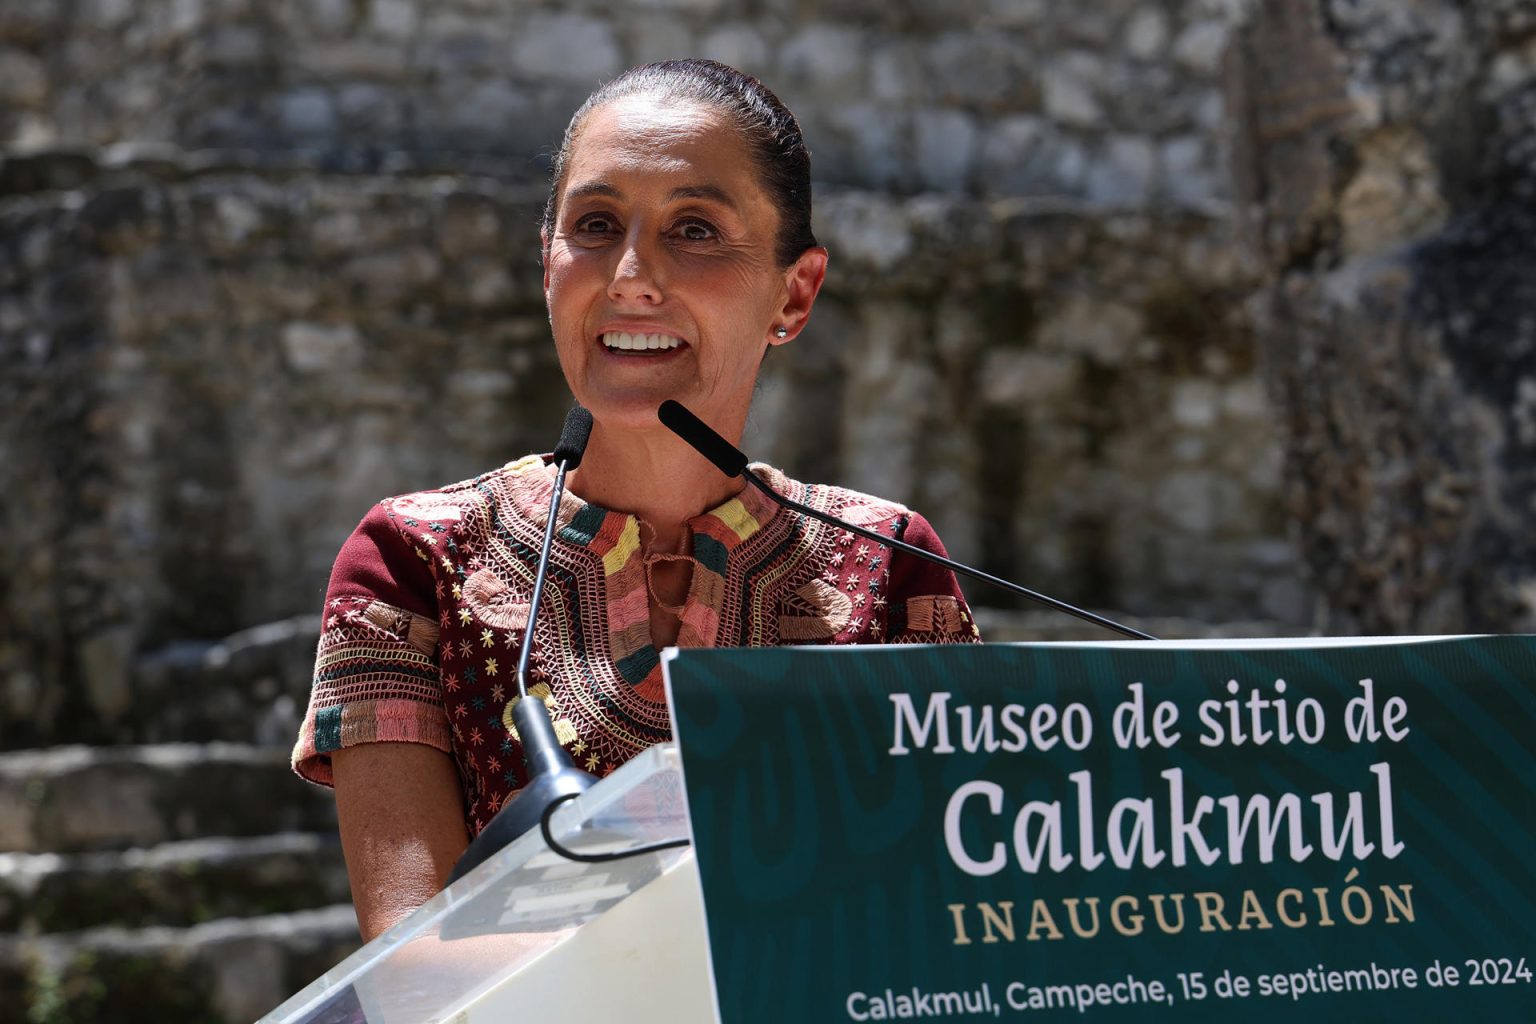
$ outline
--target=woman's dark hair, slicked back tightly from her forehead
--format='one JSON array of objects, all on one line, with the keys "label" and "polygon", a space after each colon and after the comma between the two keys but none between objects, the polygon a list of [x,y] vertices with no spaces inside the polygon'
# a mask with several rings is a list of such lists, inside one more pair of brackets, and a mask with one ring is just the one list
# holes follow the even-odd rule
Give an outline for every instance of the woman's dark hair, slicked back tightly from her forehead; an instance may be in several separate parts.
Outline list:
[{"label": "woman's dark hair, slicked back tightly from her forehead", "polygon": [[[757,161],[768,198],[779,210],[776,258],[788,267],[816,246],[811,233],[811,152],[800,123],[763,83],[714,60],[664,60],[631,68],[604,84],[581,104],[565,127],[550,172],[550,198],[544,204],[544,236],[554,235],[554,212],[565,187],[565,163],[587,115],[625,97],[693,101],[722,111],[746,140]],[[545,241],[545,247],[548,241]]]}]

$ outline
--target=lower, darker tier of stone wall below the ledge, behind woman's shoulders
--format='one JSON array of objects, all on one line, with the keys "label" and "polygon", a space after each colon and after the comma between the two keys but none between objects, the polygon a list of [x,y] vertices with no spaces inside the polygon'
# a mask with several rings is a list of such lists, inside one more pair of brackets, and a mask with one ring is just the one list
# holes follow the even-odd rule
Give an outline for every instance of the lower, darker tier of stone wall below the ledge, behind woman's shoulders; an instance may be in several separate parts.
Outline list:
[{"label": "lower, darker tier of stone wall below the ledge, behind woman's shoulders", "polygon": [[[373,499],[551,442],[539,190],[11,172],[72,187],[0,204],[8,743],[157,738],[169,648],[312,613]],[[1071,600],[1304,617],[1221,221],[828,189],[819,230],[836,272],[754,454]]]}]

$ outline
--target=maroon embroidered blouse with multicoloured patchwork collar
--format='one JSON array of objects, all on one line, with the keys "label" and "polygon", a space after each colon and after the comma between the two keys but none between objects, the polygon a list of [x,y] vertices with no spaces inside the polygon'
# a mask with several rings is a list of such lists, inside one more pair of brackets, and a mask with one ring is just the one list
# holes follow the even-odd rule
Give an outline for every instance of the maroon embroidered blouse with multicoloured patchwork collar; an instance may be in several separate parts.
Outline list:
[{"label": "maroon embroidered blouse with multicoloured patchwork collar", "polygon": [[[753,470],[785,497],[943,553],[928,520],[902,505]],[[293,748],[300,775],[330,785],[330,754],[346,746],[427,743],[453,755],[470,837],[518,792],[516,663],[553,485],[554,468],[528,456],[369,511],[326,593]],[[980,639],[952,573],[756,488],[688,527],[694,568],[677,646]],[[634,516],[561,497],[528,691],[593,774],[671,738]]]}]

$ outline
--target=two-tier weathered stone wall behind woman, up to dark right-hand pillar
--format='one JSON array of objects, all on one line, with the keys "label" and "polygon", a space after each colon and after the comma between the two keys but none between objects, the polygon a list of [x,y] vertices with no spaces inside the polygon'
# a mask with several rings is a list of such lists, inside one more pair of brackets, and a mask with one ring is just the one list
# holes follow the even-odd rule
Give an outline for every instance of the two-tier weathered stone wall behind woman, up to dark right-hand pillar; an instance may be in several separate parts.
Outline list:
[{"label": "two-tier weathered stone wall behind woman, up to dark right-hand pillar", "polygon": [[[596,81],[679,54],[762,74],[820,181],[833,273],[766,365],[754,454],[908,500],[1069,600],[1307,622],[1223,198],[1243,15],[9,3],[0,742],[220,731],[157,720],[214,677],[175,666],[313,614],[375,497],[550,444],[547,158]],[[301,699],[290,674],[253,692]]]}]

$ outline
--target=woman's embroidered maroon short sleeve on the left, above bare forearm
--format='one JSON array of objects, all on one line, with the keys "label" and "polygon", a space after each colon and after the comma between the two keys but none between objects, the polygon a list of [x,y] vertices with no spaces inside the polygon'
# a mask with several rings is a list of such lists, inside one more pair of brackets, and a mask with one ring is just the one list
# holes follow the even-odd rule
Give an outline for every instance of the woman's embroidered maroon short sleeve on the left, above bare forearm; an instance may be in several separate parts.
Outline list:
[{"label": "woman's embroidered maroon short sleeve on the left, above bare forearm", "polygon": [[438,600],[424,542],[375,505],[336,556],[293,771],[332,785],[330,754],[379,742],[452,752],[438,666]]}]

